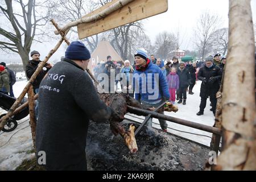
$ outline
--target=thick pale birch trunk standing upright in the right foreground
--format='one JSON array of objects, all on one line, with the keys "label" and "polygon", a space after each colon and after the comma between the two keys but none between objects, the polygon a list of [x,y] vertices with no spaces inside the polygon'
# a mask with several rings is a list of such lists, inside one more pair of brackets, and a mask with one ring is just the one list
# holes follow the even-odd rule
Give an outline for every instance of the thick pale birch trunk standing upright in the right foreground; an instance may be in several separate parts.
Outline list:
[{"label": "thick pale birch trunk standing upright in the right foreground", "polygon": [[[254,32],[250,0],[229,1],[229,46],[217,170],[256,170]],[[246,67],[241,67],[247,65]]]}]

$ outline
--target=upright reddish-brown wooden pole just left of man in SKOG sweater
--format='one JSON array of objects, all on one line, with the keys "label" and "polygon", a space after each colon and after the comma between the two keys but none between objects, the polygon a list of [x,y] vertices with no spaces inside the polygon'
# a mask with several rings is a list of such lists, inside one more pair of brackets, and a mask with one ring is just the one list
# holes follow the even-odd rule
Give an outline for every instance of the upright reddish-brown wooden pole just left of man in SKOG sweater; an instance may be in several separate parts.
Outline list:
[{"label": "upright reddish-brown wooden pole just left of man in SKOG sweater", "polygon": [[36,152],[36,117],[35,117],[35,105],[34,105],[34,90],[33,86],[31,85],[30,88],[28,88],[28,107],[30,110],[30,127],[31,127],[31,134],[32,134],[32,140],[34,145],[34,150]]}]

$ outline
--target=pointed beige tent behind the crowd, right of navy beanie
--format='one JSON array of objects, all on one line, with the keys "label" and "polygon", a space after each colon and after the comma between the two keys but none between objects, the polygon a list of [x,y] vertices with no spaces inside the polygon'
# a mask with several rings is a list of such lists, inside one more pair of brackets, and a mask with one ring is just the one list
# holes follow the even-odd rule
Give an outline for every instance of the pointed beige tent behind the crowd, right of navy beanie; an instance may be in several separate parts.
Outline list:
[{"label": "pointed beige tent behind the crowd, right of navy beanie", "polygon": [[112,60],[121,61],[122,57],[110,45],[108,41],[101,41],[91,55],[91,60],[88,64],[90,71],[101,61],[106,61],[107,56],[111,56]]}]

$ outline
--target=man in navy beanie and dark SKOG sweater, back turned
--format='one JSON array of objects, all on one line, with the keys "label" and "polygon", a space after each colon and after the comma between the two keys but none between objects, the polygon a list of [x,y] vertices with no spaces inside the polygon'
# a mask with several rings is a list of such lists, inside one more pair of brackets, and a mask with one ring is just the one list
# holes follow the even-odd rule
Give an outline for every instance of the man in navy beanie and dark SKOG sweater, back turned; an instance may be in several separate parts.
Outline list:
[{"label": "man in navy beanie and dark SKOG sweater, back turned", "polygon": [[[108,121],[112,109],[98,97],[85,69],[90,52],[72,42],[65,58],[48,72],[39,86],[36,126],[38,164],[47,170],[86,170],[88,122]],[[40,157],[45,154],[45,162]]]}]

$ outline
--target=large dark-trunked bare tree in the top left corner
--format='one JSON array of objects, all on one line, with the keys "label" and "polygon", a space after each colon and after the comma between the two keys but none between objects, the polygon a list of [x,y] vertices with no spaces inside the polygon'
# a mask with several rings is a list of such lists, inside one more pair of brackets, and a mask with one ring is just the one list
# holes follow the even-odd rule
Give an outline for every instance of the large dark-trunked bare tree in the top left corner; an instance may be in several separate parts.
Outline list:
[{"label": "large dark-trunked bare tree in the top left corner", "polygon": [[49,11],[42,11],[45,5],[46,2],[36,4],[35,0],[28,0],[26,3],[22,0],[5,0],[0,5],[0,48],[8,53],[18,53],[24,69],[29,60],[32,41],[44,33],[39,27],[46,25],[49,18]]}]

